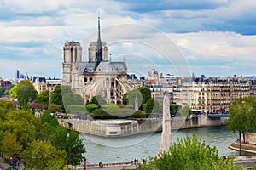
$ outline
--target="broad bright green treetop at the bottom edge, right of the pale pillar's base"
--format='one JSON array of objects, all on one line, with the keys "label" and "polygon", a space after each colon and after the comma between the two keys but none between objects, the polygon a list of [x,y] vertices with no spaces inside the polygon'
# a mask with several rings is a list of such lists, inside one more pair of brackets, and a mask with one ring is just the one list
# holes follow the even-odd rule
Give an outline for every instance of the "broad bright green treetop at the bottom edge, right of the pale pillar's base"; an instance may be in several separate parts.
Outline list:
[{"label": "broad bright green treetop at the bottom edge, right of the pale pillar's base", "polygon": [[241,165],[236,165],[236,161],[218,157],[216,147],[210,147],[205,142],[201,142],[194,134],[193,137],[178,139],[177,144],[173,144],[170,150],[158,154],[151,161],[138,166],[137,169],[148,170],[212,170],[212,169],[242,169]]}]

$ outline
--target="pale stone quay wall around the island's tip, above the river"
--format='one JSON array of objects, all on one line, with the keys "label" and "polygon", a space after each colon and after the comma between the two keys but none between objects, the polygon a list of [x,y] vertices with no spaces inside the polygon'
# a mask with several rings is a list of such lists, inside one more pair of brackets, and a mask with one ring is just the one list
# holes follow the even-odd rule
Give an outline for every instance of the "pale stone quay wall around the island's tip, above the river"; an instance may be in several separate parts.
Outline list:
[{"label": "pale stone quay wall around the island's tip, above the river", "polygon": [[[223,126],[228,117],[208,118],[207,115],[197,119],[186,117],[172,117],[172,129],[218,127]],[[146,119],[144,121],[105,120],[89,121],[80,119],[61,119],[59,122],[67,129],[74,128],[79,133],[88,133],[103,137],[122,137],[140,133],[154,133],[161,131],[161,119]]]}]

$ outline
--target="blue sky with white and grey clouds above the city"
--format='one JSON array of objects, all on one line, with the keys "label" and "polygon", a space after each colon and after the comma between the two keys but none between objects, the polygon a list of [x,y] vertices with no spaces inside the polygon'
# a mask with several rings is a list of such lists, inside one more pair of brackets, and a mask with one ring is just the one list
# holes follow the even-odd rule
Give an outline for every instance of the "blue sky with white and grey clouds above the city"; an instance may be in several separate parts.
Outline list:
[{"label": "blue sky with white and grey clouds above the city", "polygon": [[[157,2],[157,3],[156,3]],[[0,76],[61,77],[63,45],[102,40],[131,73],[256,75],[254,0],[0,0]]]}]

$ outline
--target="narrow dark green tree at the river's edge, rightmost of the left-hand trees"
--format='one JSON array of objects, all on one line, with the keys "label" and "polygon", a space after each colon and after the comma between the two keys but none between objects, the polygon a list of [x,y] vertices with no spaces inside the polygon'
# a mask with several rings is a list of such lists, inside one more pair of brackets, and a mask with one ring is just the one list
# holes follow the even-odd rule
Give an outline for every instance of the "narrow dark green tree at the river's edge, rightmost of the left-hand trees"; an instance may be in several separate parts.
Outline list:
[{"label": "narrow dark green tree at the river's edge, rightmost of the left-hand trees", "polygon": [[74,129],[71,129],[67,137],[66,152],[69,164],[79,165],[84,159],[83,154],[86,150],[83,140],[79,139],[79,133]]}]

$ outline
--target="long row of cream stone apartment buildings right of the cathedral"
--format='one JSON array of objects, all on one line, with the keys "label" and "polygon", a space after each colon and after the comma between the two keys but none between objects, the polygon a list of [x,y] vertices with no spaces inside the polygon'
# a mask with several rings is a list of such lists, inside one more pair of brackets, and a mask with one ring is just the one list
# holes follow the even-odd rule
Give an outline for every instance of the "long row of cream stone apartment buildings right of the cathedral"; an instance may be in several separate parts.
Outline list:
[{"label": "long row of cream stone apartment buildings right of the cathedral", "polygon": [[202,113],[228,112],[232,101],[255,97],[256,92],[255,83],[246,77],[199,77],[179,82],[173,101]]}]

